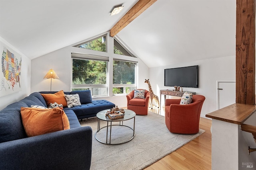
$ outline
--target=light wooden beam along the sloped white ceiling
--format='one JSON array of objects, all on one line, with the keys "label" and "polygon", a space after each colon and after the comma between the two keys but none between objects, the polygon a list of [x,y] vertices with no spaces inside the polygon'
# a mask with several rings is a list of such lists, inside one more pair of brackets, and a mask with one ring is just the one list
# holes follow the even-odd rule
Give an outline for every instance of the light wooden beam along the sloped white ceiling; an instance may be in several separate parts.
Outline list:
[{"label": "light wooden beam along the sloped white ceiling", "polygon": [[139,0],[115,25],[110,29],[110,36],[114,37],[126,25],[137,18],[157,0]]}]

